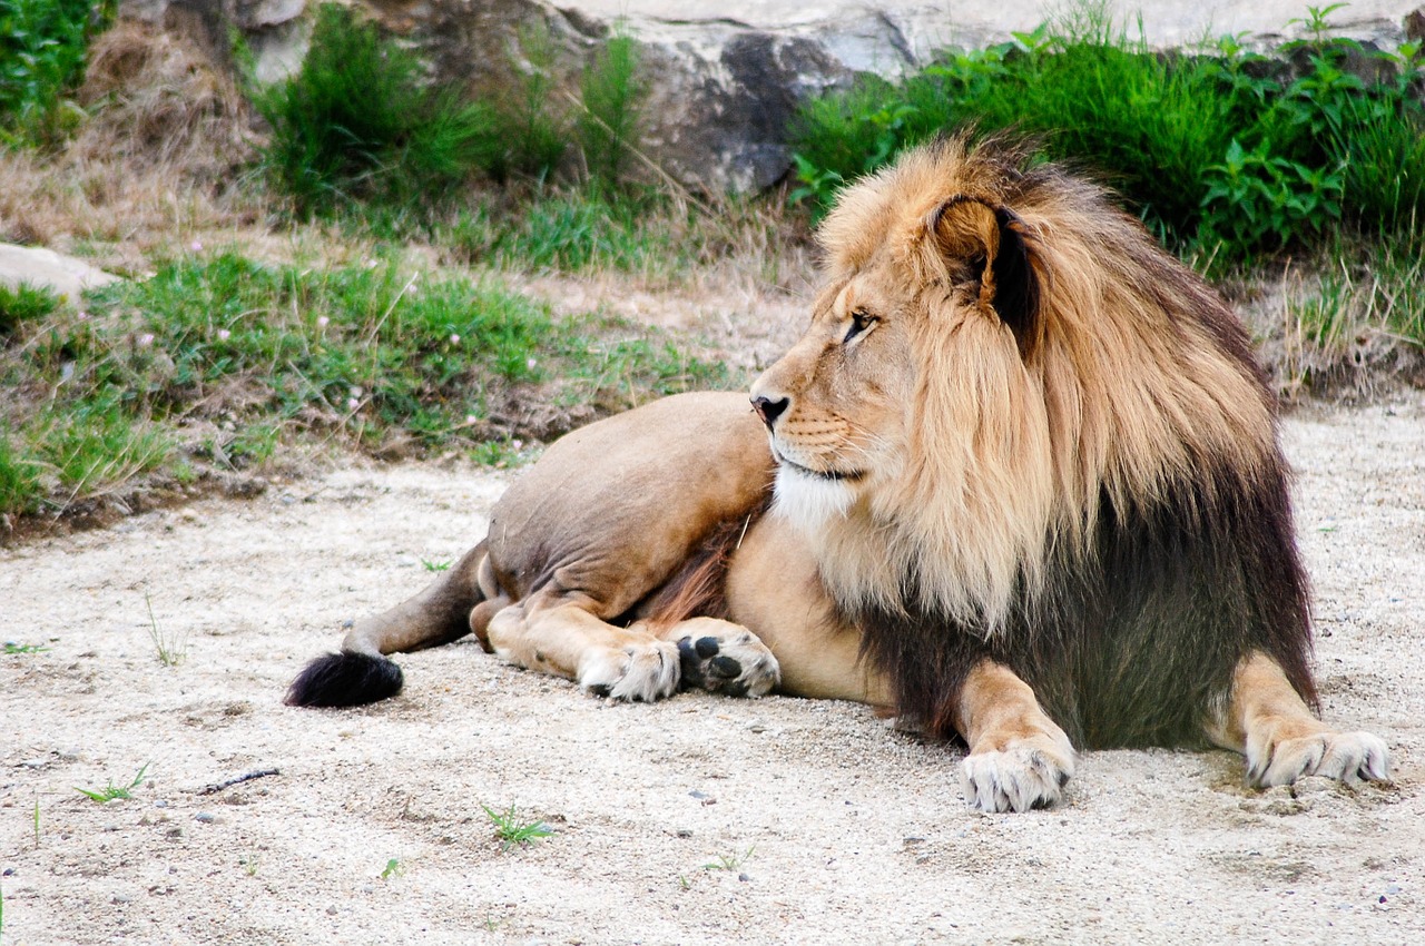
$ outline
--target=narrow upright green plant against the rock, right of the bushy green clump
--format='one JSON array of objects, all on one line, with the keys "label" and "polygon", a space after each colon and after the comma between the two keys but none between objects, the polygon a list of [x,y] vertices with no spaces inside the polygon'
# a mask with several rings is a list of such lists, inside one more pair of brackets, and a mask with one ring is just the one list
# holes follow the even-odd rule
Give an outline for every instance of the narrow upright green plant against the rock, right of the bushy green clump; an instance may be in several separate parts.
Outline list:
[{"label": "narrow upright green plant against the rock, right of the bushy green clump", "polygon": [[638,44],[614,34],[584,71],[579,137],[584,164],[594,181],[616,187],[638,138],[647,84],[638,76]]}]

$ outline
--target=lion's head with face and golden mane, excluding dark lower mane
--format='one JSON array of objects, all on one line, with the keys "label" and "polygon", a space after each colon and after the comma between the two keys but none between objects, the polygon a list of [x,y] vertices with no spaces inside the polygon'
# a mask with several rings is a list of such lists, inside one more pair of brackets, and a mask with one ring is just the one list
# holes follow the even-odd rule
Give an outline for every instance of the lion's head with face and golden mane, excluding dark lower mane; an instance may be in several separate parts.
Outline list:
[{"label": "lion's head with face and golden mane, excluding dark lower mane", "polygon": [[908,152],[819,241],[811,326],[752,396],[777,506],[844,607],[915,594],[990,635],[1103,516],[1181,484],[1211,506],[1277,463],[1234,316],[1100,188],[1013,145]]}]

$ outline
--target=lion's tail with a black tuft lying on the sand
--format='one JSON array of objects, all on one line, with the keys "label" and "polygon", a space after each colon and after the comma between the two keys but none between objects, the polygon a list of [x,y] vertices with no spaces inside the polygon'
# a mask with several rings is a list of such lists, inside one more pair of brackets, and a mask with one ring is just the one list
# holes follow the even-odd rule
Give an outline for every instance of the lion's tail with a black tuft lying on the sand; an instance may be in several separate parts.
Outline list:
[{"label": "lion's tail with a black tuft lying on the sand", "polygon": [[470,633],[470,611],[484,600],[484,541],[415,597],[356,621],[342,650],[306,665],[284,702],[289,707],[359,707],[400,692],[400,667],[386,654],[449,644]]}]

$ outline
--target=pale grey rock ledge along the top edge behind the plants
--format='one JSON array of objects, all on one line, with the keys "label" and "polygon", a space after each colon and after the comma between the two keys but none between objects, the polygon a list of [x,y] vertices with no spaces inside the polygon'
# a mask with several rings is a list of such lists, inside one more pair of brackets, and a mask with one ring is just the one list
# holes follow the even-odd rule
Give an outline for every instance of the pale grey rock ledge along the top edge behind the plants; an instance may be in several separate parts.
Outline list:
[{"label": "pale grey rock ledge along the top edge behind the plants", "polygon": [[[643,152],[661,172],[708,191],[755,191],[782,178],[791,165],[788,118],[804,98],[846,87],[858,73],[898,77],[948,46],[1005,41],[1063,6],[1033,0],[351,1],[426,48],[442,78],[473,88],[509,88],[513,70],[537,68],[524,54],[537,36],[554,53],[549,68],[567,100],[614,30],[636,37],[648,81]],[[1418,0],[1355,0],[1334,11],[1331,21],[1335,34],[1394,46],[1418,6]],[[256,57],[258,77],[275,80],[301,64],[306,7],[304,0],[123,0],[121,11],[190,33],[219,58],[227,54],[228,27],[235,26]],[[1302,0],[1161,0],[1141,7],[1144,34],[1161,46],[1228,33],[1268,46],[1307,28]],[[1414,16],[1419,19],[1418,11]]]}]

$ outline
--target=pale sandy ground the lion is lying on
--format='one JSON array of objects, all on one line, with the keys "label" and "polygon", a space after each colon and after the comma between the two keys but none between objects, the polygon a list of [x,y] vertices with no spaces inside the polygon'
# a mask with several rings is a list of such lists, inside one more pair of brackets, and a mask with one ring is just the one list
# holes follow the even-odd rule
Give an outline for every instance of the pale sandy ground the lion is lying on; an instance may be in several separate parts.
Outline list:
[{"label": "pale sandy ground the lion is lying on", "polygon": [[[375,708],[282,707],[503,474],[343,469],[0,550],[0,640],[48,648],[0,655],[0,942],[1425,942],[1425,399],[1285,436],[1324,711],[1385,737],[1388,786],[1094,752],[1064,805],[976,815],[956,749],[862,707],[608,705],[472,643]],[[502,851],[482,804],[554,833]]]}]

